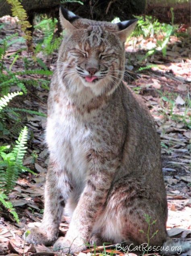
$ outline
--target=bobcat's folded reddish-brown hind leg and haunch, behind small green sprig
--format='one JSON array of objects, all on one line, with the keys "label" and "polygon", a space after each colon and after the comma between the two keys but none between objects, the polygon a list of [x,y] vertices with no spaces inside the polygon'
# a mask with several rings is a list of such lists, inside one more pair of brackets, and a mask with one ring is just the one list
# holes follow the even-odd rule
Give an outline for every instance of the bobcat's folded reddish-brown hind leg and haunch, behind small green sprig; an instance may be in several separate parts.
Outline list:
[{"label": "bobcat's folded reddish-brown hind leg and haunch, behind small green sprig", "polygon": [[156,220],[155,224],[150,225],[149,237],[158,230],[150,240],[150,245],[162,246],[166,240],[166,197],[165,192],[162,195],[162,191],[151,191],[153,188],[138,182],[137,178],[127,178],[114,184],[93,232],[102,230],[103,241],[139,246],[148,242],[148,223],[145,220],[147,214],[151,217],[151,223]]}]

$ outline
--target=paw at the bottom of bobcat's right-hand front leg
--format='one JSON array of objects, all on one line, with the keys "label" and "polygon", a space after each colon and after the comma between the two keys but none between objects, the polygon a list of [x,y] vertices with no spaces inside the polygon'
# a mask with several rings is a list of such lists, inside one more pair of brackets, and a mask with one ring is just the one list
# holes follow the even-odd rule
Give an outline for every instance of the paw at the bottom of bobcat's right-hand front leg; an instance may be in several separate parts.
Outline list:
[{"label": "paw at the bottom of bobcat's right-hand front leg", "polygon": [[62,251],[64,253],[73,254],[74,252],[81,252],[86,249],[85,244],[83,244],[83,241],[81,239],[73,239],[73,241],[70,241],[66,239],[66,237],[60,237],[58,240],[54,243],[53,246],[54,251]]}]

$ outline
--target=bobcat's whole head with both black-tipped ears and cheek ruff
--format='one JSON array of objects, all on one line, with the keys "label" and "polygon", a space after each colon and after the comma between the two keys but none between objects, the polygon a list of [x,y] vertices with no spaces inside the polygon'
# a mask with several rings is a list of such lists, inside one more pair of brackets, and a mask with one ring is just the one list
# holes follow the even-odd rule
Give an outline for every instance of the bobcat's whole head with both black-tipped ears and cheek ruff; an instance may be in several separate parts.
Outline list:
[{"label": "bobcat's whole head with both black-tipped ears and cheek ruff", "polygon": [[66,34],[57,71],[66,87],[75,91],[89,87],[96,95],[112,93],[123,78],[124,43],[136,21],[113,24],[81,19],[61,7],[60,23]]}]

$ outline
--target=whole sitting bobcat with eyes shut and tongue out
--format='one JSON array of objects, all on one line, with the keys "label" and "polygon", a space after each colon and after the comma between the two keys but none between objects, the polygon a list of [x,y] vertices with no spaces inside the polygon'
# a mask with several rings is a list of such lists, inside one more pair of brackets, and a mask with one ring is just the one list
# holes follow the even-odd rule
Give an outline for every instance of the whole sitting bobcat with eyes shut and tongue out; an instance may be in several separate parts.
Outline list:
[{"label": "whole sitting bobcat with eyes shut and tongue out", "polygon": [[[49,245],[58,237],[63,208],[71,217],[63,252],[85,243],[151,246],[167,239],[167,201],[160,142],[141,99],[122,82],[126,38],[136,20],[112,24],[81,19],[61,8],[66,35],[48,98],[50,163],[42,225],[26,241]],[[168,242],[167,242],[168,243]],[[168,252],[169,253],[169,252]]]}]

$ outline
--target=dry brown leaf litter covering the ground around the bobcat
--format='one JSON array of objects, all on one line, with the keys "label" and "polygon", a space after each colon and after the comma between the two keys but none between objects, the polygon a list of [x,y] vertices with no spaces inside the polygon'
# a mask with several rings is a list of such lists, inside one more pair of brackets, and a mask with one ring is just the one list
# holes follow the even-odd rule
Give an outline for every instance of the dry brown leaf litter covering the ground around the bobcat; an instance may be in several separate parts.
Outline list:
[{"label": "dry brown leaf litter covering the ground around the bobcat", "polygon": [[[21,30],[15,23],[15,19],[3,17],[0,23],[5,26],[0,31],[0,38],[6,35],[18,33]],[[34,34],[34,41],[41,35],[40,31]],[[172,238],[190,238],[191,234],[191,199],[190,199],[190,81],[191,60],[189,37],[176,38],[172,36],[167,46],[166,56],[159,51],[155,55],[144,60],[146,50],[152,48],[156,38],[143,39],[131,38],[126,43],[125,82],[139,94],[147,105],[156,122],[156,128],[161,139],[162,170],[168,198],[168,235]],[[7,68],[10,67],[12,53],[23,48],[19,53],[20,58],[12,65],[12,71],[24,71],[23,58],[27,57],[33,65],[30,69],[42,68],[33,62],[28,55],[25,43],[15,43],[8,48],[4,59]],[[141,49],[141,50],[140,50]],[[42,52],[40,57],[48,69],[54,71],[57,55],[46,57]],[[139,71],[139,67],[154,65],[152,68]],[[33,81],[48,80],[41,75],[21,75],[20,78]],[[12,90],[18,90],[17,86]],[[9,106],[40,111],[46,114],[46,102],[48,90],[42,88],[41,82],[37,86],[28,86],[27,94],[15,98]],[[11,114],[10,114],[11,115]],[[24,245],[23,231],[29,227],[38,227],[43,216],[44,182],[48,164],[48,151],[44,144],[44,129],[46,117],[21,113],[18,118],[8,118],[6,127],[8,135],[2,136],[2,143],[12,143],[17,138],[16,126],[27,126],[30,131],[27,155],[24,164],[31,168],[37,175],[22,174],[15,189],[9,198],[15,206],[20,223],[15,224],[12,216],[4,209],[0,210],[0,255],[58,255],[52,251],[52,247],[43,245]],[[17,132],[17,133],[16,133]],[[62,217],[60,234],[65,235],[69,227],[69,218]],[[117,227],[116,227],[117,229]],[[96,255],[104,250],[103,246],[96,248]],[[105,248],[108,254],[112,250]],[[90,250],[81,252],[80,255],[91,254]],[[94,250],[93,250],[94,254]],[[116,254],[124,255],[122,252]],[[129,254],[131,256],[135,254]],[[155,254],[157,255],[157,254]],[[190,255],[190,252],[181,255]]]}]

